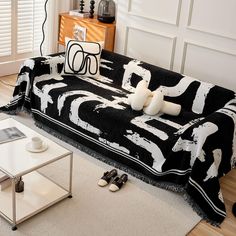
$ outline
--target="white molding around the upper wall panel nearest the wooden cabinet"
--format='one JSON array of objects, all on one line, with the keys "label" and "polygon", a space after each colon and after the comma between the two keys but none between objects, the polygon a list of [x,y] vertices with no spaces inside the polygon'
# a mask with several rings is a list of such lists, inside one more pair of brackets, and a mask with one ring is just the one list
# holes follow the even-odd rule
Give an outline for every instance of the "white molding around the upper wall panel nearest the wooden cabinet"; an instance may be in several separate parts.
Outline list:
[{"label": "white molding around the upper wall panel nearest the wooden cabinet", "polygon": [[177,6],[175,21],[168,21],[168,20],[158,18],[158,17],[150,17],[150,16],[145,15],[145,14],[137,14],[137,13],[135,13],[131,10],[131,4],[132,4],[132,0],[129,0],[127,13],[130,16],[137,16],[137,17],[141,17],[141,18],[144,18],[144,19],[147,19],[147,20],[157,21],[157,22],[164,23],[164,24],[169,24],[169,25],[175,25],[175,26],[179,25],[182,0],[178,0],[178,6]]}]

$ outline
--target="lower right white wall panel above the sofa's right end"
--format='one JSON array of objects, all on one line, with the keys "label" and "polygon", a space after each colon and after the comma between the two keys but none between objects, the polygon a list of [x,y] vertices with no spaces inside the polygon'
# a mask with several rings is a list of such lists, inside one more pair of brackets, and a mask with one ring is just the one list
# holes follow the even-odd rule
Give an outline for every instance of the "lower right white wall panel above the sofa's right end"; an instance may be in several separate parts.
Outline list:
[{"label": "lower right white wall panel above the sofa's right end", "polygon": [[236,55],[185,44],[182,73],[236,90]]}]

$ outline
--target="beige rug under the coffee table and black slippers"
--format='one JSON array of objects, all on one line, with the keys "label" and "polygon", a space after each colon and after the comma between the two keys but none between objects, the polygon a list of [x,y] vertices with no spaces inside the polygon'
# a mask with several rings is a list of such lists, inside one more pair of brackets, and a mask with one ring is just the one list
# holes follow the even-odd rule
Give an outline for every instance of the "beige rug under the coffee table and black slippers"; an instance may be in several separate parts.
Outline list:
[{"label": "beige rug under the coffee table and black slippers", "polygon": [[[0,114],[0,119],[4,117]],[[0,217],[0,236],[183,236],[200,221],[181,195],[130,175],[116,193],[109,192],[108,187],[98,187],[98,179],[112,166],[38,129],[26,114],[13,118],[74,152],[73,198],[33,216],[18,225],[16,231]],[[58,164],[58,173],[59,179],[67,178],[63,163]]]}]

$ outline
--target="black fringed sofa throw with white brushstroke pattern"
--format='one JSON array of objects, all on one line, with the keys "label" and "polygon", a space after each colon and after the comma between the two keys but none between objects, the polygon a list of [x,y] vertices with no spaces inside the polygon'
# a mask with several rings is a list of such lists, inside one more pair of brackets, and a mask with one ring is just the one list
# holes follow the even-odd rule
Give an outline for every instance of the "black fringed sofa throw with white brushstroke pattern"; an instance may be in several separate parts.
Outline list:
[{"label": "black fringed sofa throw with white brushstroke pattern", "polygon": [[[25,61],[1,111],[31,112],[37,123],[151,183],[184,191],[203,218],[221,223],[226,210],[219,178],[236,162],[235,93],[107,51],[99,79],[62,75],[63,63],[63,54]],[[151,90],[159,87],[165,100],[181,104],[181,114],[132,111],[127,97],[142,79]]]}]

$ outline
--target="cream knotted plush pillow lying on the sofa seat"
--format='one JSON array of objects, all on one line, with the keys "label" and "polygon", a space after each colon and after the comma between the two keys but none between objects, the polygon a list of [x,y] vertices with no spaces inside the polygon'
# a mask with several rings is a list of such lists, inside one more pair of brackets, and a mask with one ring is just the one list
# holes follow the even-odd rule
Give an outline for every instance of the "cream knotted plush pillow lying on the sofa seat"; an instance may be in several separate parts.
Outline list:
[{"label": "cream knotted plush pillow lying on the sofa seat", "polygon": [[145,80],[141,80],[135,93],[128,97],[128,103],[135,111],[143,109],[147,115],[156,115],[158,112],[162,112],[172,116],[178,116],[181,110],[179,104],[164,101],[164,95],[158,89],[151,92],[147,88],[148,84]]}]

